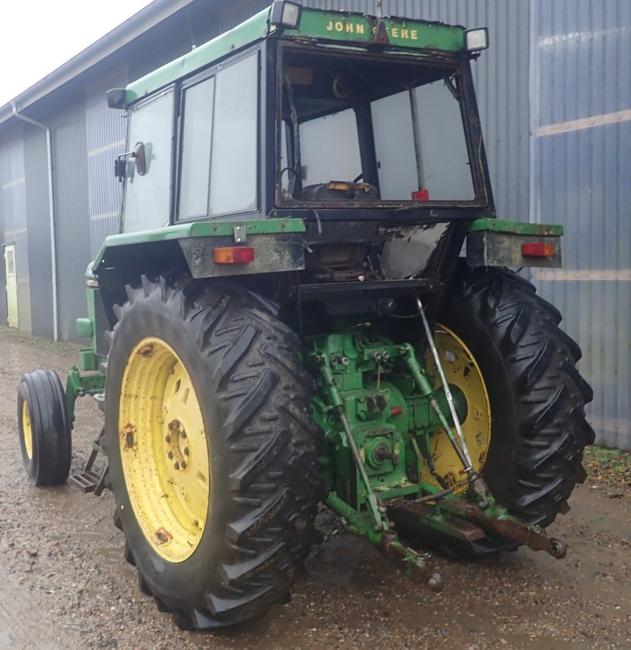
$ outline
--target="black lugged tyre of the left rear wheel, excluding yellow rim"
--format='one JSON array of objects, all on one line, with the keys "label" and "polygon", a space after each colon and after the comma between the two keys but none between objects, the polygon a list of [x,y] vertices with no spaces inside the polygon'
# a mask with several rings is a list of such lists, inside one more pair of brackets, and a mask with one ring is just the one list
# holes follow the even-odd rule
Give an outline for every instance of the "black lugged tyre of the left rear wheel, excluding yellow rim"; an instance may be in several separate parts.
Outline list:
[{"label": "black lugged tyre of the left rear wheel, excluding yellow rim", "polygon": [[[105,428],[114,522],[126,538],[143,591],[183,629],[214,629],[263,616],[289,600],[296,569],[319,539],[320,430],[309,415],[313,379],[300,341],[276,305],[218,281],[142,278],[116,307],[107,363]],[[130,505],[118,435],[125,363],[142,338],[166,341],[196,387],[209,438],[213,487],[196,551],[162,559]],[[212,440],[211,440],[212,438]]]}]

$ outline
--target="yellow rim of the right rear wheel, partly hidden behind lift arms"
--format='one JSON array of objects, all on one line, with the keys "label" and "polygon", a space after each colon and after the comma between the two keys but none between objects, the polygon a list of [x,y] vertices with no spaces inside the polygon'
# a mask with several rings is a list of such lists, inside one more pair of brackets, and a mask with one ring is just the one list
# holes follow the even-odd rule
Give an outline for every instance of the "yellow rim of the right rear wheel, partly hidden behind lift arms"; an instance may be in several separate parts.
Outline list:
[{"label": "yellow rim of the right rear wheel, partly hidden behind lift arms", "polygon": [[[434,340],[447,383],[460,389],[467,400],[467,417],[461,422],[462,432],[469,447],[472,465],[474,469],[481,471],[491,443],[491,406],[482,372],[469,348],[450,329],[436,324]],[[428,374],[435,378],[434,387],[438,388],[440,379],[429,349],[425,353],[425,363]],[[464,478],[460,473],[463,469],[462,463],[444,429],[436,430],[430,435],[430,453],[436,474],[441,476],[446,484],[453,485]],[[427,467],[423,467],[422,480],[440,487],[437,478]],[[456,492],[465,489],[467,486],[457,489]]]}]

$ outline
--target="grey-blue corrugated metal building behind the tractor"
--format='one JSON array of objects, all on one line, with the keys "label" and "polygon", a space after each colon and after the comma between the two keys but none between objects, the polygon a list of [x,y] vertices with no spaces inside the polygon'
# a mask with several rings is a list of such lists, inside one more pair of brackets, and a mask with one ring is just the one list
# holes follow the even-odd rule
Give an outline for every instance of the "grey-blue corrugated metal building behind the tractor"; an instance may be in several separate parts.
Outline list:
[{"label": "grey-blue corrugated metal building behind the tractor", "polygon": [[[76,340],[75,318],[85,309],[84,270],[119,223],[112,160],[123,151],[125,123],[120,112],[107,109],[104,91],[270,2],[155,0],[0,107],[0,237],[6,255],[0,285],[7,287],[0,291],[0,322]],[[375,8],[374,0],[303,4],[368,13]],[[473,67],[498,216],[565,226],[565,268],[535,273],[534,280],[584,350],[580,367],[594,387],[591,419],[599,441],[631,448],[630,3],[381,4],[386,15],[489,27],[491,48]]]}]

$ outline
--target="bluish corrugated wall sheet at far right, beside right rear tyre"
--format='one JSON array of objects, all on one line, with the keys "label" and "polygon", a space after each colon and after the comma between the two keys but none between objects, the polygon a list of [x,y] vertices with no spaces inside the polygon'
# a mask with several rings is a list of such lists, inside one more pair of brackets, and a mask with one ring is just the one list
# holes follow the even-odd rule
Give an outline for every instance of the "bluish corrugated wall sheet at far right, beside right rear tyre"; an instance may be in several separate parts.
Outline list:
[{"label": "bluish corrugated wall sheet at far right, beside right rear tyre", "polygon": [[597,441],[631,448],[631,3],[532,0],[532,218],[565,226],[535,274],[584,352]]}]

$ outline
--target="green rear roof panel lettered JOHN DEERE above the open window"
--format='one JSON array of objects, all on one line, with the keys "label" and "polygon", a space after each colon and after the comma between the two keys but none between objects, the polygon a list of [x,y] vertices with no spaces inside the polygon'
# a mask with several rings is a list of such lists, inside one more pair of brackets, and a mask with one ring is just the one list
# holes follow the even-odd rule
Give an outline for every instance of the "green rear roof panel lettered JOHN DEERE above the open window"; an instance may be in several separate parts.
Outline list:
[{"label": "green rear roof panel lettered JOHN DEERE above the open window", "polygon": [[[404,18],[385,18],[384,22],[391,47],[456,52],[465,45],[463,27]],[[365,45],[374,39],[375,25],[375,18],[363,14],[304,7],[298,29],[285,29],[285,34]]]}]

